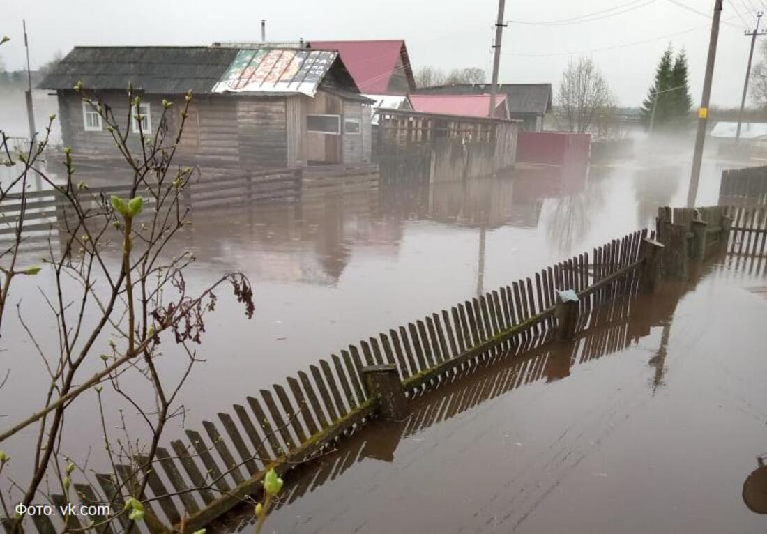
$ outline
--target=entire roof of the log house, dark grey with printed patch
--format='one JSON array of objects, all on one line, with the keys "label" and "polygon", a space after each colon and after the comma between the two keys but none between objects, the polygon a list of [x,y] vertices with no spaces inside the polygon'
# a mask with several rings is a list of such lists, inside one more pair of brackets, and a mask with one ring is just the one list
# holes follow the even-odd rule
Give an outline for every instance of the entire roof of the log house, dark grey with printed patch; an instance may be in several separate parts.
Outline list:
[{"label": "entire roof of the log house, dark grey with printed patch", "polygon": [[[75,47],[39,87],[124,90],[130,81],[153,94],[247,93],[314,96],[328,72],[334,90],[357,86],[337,51],[297,48]],[[350,92],[351,91],[351,92]],[[369,101],[358,93],[355,98]]]}]

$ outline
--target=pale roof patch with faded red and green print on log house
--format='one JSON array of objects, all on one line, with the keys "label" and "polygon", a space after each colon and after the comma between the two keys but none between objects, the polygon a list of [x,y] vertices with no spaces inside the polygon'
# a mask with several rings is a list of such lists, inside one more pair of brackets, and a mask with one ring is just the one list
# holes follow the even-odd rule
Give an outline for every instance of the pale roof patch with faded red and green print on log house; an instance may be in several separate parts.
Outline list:
[{"label": "pale roof patch with faded red and green print on log house", "polygon": [[212,88],[214,93],[302,93],[310,97],[337,58],[335,51],[240,50]]}]

